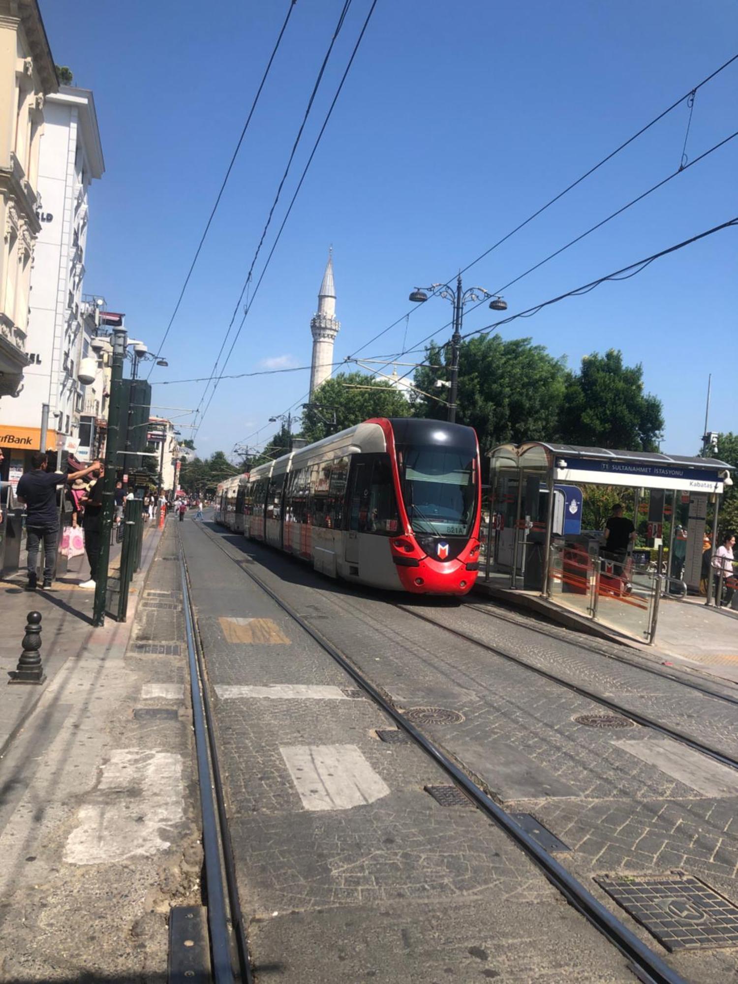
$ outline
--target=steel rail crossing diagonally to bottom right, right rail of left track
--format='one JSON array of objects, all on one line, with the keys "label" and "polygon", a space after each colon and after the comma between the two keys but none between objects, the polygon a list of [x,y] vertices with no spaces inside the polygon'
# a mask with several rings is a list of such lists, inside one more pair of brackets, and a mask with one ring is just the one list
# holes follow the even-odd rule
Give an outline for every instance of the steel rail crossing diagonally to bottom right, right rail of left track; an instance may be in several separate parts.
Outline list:
[{"label": "steel rail crossing diagonally to bottom right, right rail of left track", "polygon": [[622,923],[617,916],[613,915],[591,892],[585,889],[584,885],[571,875],[556,858],[544,850],[501,806],[495,803],[480,786],[473,782],[445,752],[387,701],[380,691],[370,682],[368,677],[364,676],[361,670],[337,646],[334,646],[327,640],[310,622],[306,621],[303,616],[295,611],[287,601],[280,598],[269,584],[262,581],[252,571],[238,564],[237,559],[228,553],[219,542],[219,537],[211,535],[202,525],[201,528],[205,536],[211,542],[215,543],[225,556],[235,564],[239,571],[253,581],[254,584],[257,584],[265,594],[269,595],[283,612],[296,622],[318,646],[321,646],[362,690],[366,691],[375,704],[379,705],[441,769],[447,772],[457,785],[461,786],[461,789],[463,789],[475,806],[518,844],[523,852],[540,868],[548,881],[565,896],[567,901],[598,932],[606,937],[620,953],[623,953],[627,957],[631,963],[631,969],[634,970],[644,984],[686,984],[684,978],[676,970],[672,969],[657,953],[654,953],[647,947],[632,930]]}]

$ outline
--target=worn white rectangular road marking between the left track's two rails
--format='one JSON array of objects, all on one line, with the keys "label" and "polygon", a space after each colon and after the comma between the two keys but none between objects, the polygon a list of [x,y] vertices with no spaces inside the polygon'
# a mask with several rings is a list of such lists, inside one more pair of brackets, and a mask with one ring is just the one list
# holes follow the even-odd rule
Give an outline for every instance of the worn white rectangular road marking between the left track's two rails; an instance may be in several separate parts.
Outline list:
[{"label": "worn white rectangular road marking between the left track's two rails", "polygon": [[355,745],[287,745],[279,751],[306,810],[348,810],[390,794]]}]

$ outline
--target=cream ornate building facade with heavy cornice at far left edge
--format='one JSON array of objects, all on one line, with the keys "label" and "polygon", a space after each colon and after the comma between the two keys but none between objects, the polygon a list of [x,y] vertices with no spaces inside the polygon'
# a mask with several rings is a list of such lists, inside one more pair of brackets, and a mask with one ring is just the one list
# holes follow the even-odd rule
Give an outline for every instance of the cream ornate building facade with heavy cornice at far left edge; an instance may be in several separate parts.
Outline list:
[{"label": "cream ornate building facade with heavy cornice at far left edge", "polygon": [[41,229],[38,157],[45,99],[57,88],[36,0],[0,0],[0,447],[10,450],[30,437],[4,425],[29,365],[31,265]]}]

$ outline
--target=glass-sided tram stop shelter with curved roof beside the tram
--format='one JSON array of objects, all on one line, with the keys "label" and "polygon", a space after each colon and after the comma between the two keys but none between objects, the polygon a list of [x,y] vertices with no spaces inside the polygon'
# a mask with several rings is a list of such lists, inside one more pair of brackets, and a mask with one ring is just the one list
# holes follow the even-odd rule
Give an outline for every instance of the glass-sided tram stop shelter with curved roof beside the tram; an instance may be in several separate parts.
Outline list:
[{"label": "glass-sided tram stop shelter with curved roof beside the tram", "polygon": [[[539,441],[500,445],[489,457],[482,584],[543,595],[647,643],[661,599],[700,597],[708,516],[707,558],[732,484],[725,461]],[[649,544],[624,563],[604,539],[617,499]],[[711,567],[708,580],[711,588]]]}]

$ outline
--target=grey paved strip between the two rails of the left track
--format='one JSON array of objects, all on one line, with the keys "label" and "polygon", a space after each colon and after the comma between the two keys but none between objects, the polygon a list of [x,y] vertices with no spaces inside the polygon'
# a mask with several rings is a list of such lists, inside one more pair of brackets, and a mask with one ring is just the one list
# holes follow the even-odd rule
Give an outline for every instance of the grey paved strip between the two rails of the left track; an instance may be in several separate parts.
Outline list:
[{"label": "grey paved strip between the two rails of the left track", "polygon": [[392,722],[320,646],[182,536],[257,980],[632,979],[501,830],[431,798],[445,774],[379,739]]}]

